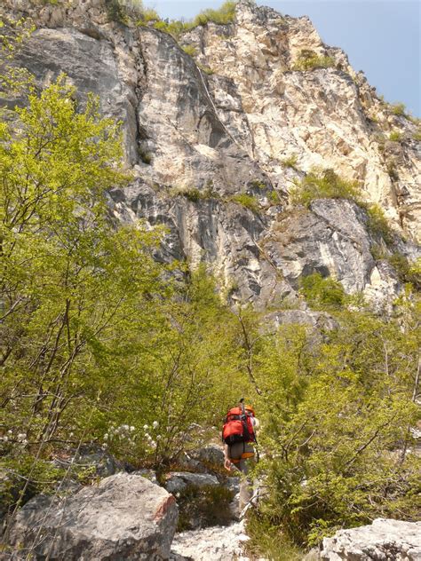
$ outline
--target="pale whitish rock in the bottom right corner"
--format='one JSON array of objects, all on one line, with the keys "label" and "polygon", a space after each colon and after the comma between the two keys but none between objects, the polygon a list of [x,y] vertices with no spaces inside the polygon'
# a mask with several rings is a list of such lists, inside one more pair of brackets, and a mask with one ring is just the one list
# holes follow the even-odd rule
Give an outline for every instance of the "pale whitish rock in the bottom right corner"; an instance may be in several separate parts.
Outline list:
[{"label": "pale whitish rock in the bottom right corner", "polygon": [[377,518],[372,525],[339,530],[323,540],[325,561],[419,561],[421,522]]}]

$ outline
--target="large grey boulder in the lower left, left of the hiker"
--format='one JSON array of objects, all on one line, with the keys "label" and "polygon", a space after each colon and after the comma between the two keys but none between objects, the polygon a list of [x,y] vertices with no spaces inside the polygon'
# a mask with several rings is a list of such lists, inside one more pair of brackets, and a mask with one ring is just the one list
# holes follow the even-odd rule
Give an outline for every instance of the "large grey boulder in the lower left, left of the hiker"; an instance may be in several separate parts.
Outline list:
[{"label": "large grey boulder in the lower left, left of the hiker", "polygon": [[177,518],[165,489],[117,473],[64,501],[36,496],[20,510],[10,542],[17,558],[30,550],[38,560],[162,561],[170,556]]}]

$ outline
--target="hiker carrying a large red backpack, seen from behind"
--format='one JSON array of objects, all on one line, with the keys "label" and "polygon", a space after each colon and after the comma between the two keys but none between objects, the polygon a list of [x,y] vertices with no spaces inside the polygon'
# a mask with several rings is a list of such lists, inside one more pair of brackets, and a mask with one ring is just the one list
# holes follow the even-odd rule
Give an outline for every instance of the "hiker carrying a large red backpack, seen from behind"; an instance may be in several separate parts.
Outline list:
[{"label": "hiker carrying a large red backpack, seen from behind", "polygon": [[243,399],[240,399],[240,407],[233,407],[226,414],[222,430],[226,470],[231,471],[234,467],[246,476],[240,483],[240,512],[250,502],[253,492],[247,475],[250,470],[250,461],[255,457],[254,445],[257,444],[258,424],[253,407],[244,406]]}]

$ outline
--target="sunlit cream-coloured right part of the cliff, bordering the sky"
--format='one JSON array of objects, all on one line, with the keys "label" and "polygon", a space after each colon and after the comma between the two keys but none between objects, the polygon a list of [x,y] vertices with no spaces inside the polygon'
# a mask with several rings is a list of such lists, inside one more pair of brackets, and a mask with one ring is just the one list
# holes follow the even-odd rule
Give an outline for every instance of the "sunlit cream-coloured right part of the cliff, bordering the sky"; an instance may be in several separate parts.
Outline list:
[{"label": "sunlit cream-coloured right part of the cliff, bordering the sky", "polygon": [[[245,0],[234,26],[210,24],[185,40],[195,46],[196,59],[211,68],[209,89],[220,120],[275,186],[292,186],[294,174],[286,173],[283,163],[291,156],[297,170],[332,168],[361,180],[369,200],[417,232],[417,125],[393,115],[346,54],[322,43],[308,18]],[[305,50],[329,57],[330,67],[300,70]],[[401,143],[387,142],[392,130],[401,133]]]}]

